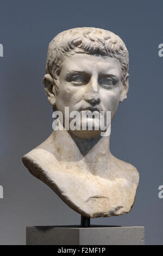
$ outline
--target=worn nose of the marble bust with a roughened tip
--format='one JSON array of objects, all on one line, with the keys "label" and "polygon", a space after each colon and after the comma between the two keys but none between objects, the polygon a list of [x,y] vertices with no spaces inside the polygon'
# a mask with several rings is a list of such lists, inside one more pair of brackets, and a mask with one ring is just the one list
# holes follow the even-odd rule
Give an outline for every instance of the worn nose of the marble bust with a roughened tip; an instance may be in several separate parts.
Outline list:
[{"label": "worn nose of the marble bust with a roughened tip", "polygon": [[88,89],[84,95],[84,100],[93,105],[99,104],[101,102],[99,92],[98,92],[98,81],[96,78],[91,78],[90,83],[87,85]]}]

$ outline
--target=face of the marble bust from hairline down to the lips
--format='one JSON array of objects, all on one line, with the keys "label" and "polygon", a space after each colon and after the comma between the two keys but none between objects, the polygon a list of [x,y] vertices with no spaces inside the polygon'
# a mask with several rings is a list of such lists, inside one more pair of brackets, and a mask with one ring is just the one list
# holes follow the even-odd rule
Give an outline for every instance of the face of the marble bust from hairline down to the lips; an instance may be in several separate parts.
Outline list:
[{"label": "face of the marble bust from hairline down to the lips", "polygon": [[116,58],[76,53],[65,58],[59,75],[56,107],[72,111],[111,111],[114,118],[122,93],[122,69]]}]

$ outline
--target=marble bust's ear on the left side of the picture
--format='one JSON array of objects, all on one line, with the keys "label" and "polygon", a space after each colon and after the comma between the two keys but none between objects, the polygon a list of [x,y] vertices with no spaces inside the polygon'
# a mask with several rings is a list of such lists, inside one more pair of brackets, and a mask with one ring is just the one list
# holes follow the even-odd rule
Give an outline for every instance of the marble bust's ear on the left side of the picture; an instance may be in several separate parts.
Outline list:
[{"label": "marble bust's ear on the left side of the picture", "polygon": [[54,107],[55,105],[55,88],[54,88],[54,81],[51,75],[46,74],[43,77],[43,86],[45,93],[48,97],[48,101],[51,103],[51,105]]}]

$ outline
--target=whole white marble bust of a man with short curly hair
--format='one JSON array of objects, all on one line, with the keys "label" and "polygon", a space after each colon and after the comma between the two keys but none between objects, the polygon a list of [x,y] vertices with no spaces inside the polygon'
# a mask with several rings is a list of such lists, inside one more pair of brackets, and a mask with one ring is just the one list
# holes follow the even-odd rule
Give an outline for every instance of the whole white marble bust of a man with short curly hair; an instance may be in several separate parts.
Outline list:
[{"label": "whole white marble bust of a man with short curly hair", "polygon": [[[73,28],[50,42],[43,84],[53,111],[110,111],[127,98],[129,54],[121,38],[99,28]],[[64,124],[63,124],[64,127]],[[128,213],[139,173],[110,152],[99,130],[57,130],[22,157],[36,178],[79,214]]]}]

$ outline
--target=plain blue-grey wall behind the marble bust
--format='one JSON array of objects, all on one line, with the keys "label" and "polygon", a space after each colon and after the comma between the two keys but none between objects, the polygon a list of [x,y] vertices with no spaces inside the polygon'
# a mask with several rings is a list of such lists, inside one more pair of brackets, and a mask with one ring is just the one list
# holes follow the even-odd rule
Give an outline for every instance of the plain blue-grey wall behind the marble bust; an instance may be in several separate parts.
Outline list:
[{"label": "plain blue-grey wall behind the marble bust", "polygon": [[112,123],[111,151],[140,173],[129,214],[96,218],[92,224],[143,225],[146,244],[163,244],[162,175],[162,1],[0,1],[1,76],[1,245],[25,244],[27,225],[79,224],[74,212],[43,182],[28,173],[22,155],[52,132],[45,96],[49,41],[73,27],[108,29],[130,53],[130,89]]}]

